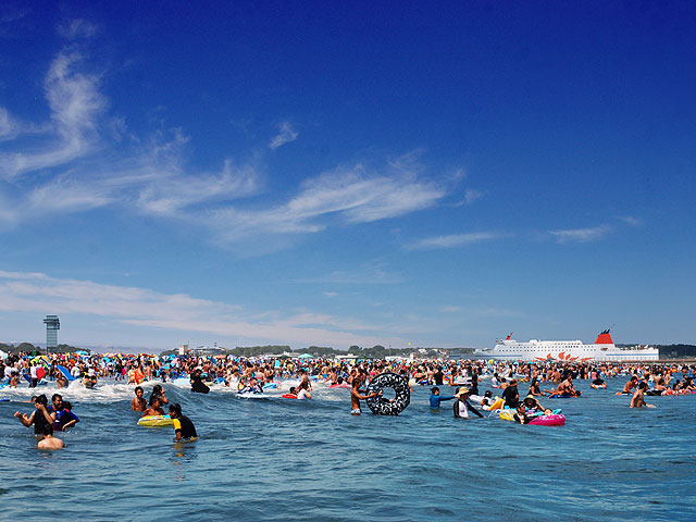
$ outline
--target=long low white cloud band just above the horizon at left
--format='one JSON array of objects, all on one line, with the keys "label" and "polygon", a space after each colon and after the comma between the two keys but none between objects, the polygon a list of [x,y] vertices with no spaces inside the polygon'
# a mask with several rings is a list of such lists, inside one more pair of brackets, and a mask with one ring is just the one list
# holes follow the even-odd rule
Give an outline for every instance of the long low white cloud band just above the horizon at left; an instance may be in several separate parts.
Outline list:
[{"label": "long low white cloud band just above the horizon at left", "polygon": [[[42,314],[46,310],[74,318],[98,316],[116,325],[166,328],[182,332],[183,337],[194,333],[244,341],[335,347],[373,346],[385,339],[376,334],[373,325],[307,310],[253,314],[243,307],[185,294],[0,271],[0,311]],[[109,339],[102,341],[109,343]],[[387,341],[402,343],[391,336]]]}]

